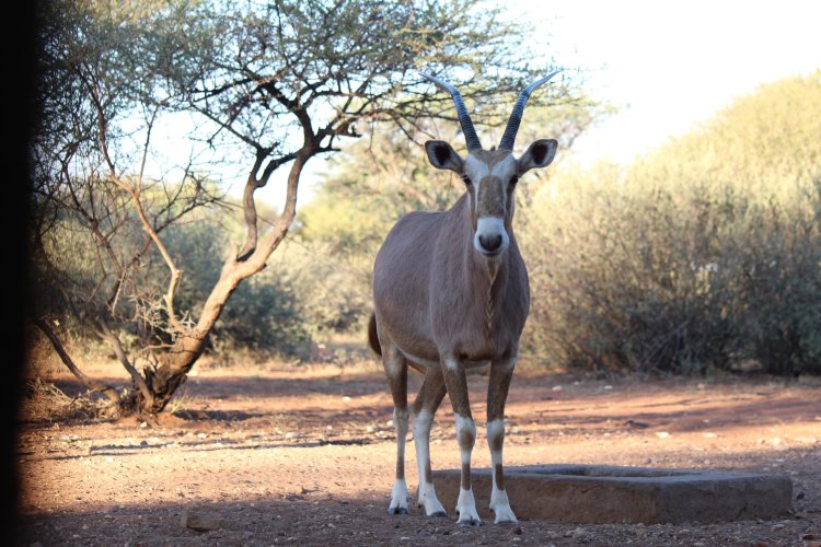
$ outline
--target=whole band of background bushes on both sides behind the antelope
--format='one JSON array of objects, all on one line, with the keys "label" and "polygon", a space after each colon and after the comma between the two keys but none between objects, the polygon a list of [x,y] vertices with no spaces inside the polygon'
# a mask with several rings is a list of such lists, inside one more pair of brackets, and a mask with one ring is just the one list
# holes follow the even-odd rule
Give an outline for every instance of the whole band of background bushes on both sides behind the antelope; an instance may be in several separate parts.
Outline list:
[{"label": "whole band of background bushes on both sides behind the antelope", "polygon": [[[557,369],[821,373],[821,72],[763,86],[627,166],[574,165],[567,147],[597,119],[580,112],[529,112],[520,139],[554,131],[566,144],[517,193],[532,292],[523,352]],[[438,129],[461,142],[455,127]],[[331,165],[266,270],[240,286],[212,345],[300,357],[334,337],[365,346],[384,235],[402,214],[446,209],[462,191],[406,136],[377,126]],[[166,233],[184,270],[177,307],[193,317],[226,245],[241,240],[219,235],[224,216],[197,214]],[[56,226],[44,244],[74,252],[55,253],[65,260],[50,267],[92,279],[81,258],[93,242]],[[147,264],[147,279],[167,275],[159,259]],[[42,296],[59,307],[59,294]]]}]

